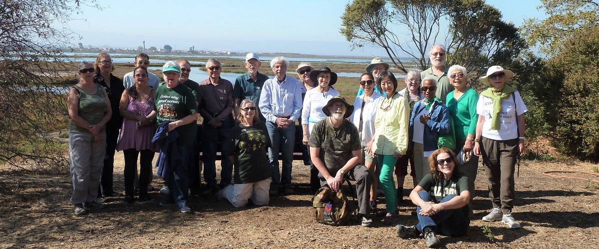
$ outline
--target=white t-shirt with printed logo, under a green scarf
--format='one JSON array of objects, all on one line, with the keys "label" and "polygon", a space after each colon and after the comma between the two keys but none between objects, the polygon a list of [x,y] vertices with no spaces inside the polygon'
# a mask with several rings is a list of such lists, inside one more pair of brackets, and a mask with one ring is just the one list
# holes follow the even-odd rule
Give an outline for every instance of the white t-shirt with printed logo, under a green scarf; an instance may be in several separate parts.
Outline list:
[{"label": "white t-shirt with printed logo, under a green scarf", "polygon": [[[514,94],[514,96],[512,96]],[[518,126],[516,117],[522,113],[528,112],[528,108],[522,101],[520,93],[512,93],[501,100],[501,128],[491,130],[493,124],[493,100],[486,96],[479,96],[479,102],[476,104],[476,113],[485,117],[483,123],[482,136],[493,140],[510,140],[518,138]],[[516,100],[516,103],[514,103]]]}]

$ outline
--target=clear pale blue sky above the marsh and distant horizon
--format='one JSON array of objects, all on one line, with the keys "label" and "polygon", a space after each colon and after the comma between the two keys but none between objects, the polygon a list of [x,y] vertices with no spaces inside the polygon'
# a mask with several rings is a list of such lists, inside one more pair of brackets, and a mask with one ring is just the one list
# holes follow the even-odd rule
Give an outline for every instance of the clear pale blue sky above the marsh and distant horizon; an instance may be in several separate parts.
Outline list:
[{"label": "clear pale blue sky above the marsh and distant horizon", "polygon": [[[347,0],[103,0],[103,10],[81,7],[71,30],[86,47],[282,52],[320,55],[385,56],[378,48],[356,48],[339,33]],[[544,19],[540,0],[489,0],[503,19],[520,26],[528,18]]]}]

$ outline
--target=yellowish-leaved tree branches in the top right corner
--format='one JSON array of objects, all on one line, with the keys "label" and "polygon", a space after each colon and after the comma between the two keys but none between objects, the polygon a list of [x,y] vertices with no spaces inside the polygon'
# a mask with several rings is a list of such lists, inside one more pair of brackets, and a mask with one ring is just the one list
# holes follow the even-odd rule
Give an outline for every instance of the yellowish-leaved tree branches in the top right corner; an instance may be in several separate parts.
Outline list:
[{"label": "yellowish-leaved tree branches in the top right corner", "polygon": [[539,50],[553,55],[561,51],[573,32],[599,23],[599,1],[541,0],[549,18],[528,19],[522,25],[522,35],[528,45],[540,45]]}]

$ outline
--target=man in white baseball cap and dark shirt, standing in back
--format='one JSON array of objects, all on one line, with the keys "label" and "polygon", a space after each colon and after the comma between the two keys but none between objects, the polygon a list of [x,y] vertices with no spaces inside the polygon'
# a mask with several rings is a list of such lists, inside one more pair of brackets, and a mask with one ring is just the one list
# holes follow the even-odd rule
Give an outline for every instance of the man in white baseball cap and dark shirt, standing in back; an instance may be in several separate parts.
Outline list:
[{"label": "man in white baseball cap and dark shirt, standing in back", "polygon": [[[246,55],[247,73],[235,79],[235,87],[233,87],[233,99],[235,100],[235,116],[239,115],[239,103],[244,99],[251,99],[254,103],[260,102],[260,92],[264,82],[268,76],[258,72],[262,63],[257,53],[249,53]],[[258,117],[262,122],[266,122],[266,118],[258,109]]]}]

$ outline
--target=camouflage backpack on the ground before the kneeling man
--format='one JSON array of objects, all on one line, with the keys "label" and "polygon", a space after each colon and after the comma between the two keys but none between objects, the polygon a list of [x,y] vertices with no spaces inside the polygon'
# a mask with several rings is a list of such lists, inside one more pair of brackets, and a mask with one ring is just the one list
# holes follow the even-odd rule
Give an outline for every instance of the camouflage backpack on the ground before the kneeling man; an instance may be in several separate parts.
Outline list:
[{"label": "camouflage backpack on the ground before the kneeling man", "polygon": [[341,226],[349,221],[352,213],[348,207],[346,196],[341,193],[333,193],[329,186],[320,187],[312,198],[313,214],[316,221],[326,225]]}]

